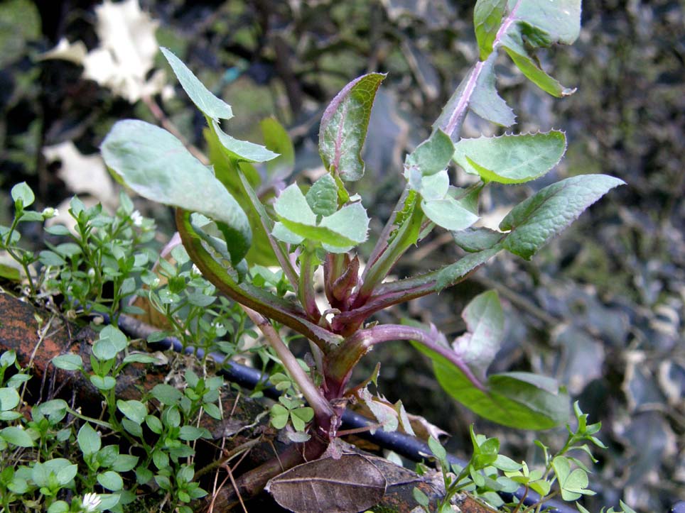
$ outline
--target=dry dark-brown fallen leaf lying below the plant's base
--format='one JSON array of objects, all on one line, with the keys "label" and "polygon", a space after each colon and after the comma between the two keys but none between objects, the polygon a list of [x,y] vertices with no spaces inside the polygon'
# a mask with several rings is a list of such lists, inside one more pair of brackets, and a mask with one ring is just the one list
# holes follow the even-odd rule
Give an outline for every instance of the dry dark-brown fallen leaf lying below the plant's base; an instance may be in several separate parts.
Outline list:
[{"label": "dry dark-brown fallen leaf lying below the plant's base", "polygon": [[385,495],[383,474],[359,454],[321,458],[286,470],[266,483],[266,491],[295,513],[356,513]]}]

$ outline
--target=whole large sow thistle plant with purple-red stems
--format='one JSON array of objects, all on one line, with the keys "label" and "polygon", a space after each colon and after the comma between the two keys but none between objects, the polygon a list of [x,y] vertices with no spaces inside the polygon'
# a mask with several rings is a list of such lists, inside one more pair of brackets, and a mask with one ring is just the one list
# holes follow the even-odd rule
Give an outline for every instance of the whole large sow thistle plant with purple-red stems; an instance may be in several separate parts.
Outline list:
[{"label": "whole large sow thistle plant with purple-red stems", "polygon": [[[369,238],[370,218],[359,195],[348,187],[365,171],[362,146],[385,75],[370,73],[353,80],[325,110],[319,132],[325,175],[308,187],[292,183],[278,190],[275,184],[293,169],[284,129],[273,120],[262,123],[266,145],[233,138],[222,126],[233,116],[231,106],[210,93],[178,57],[161,49],[205,116],[210,165],[191,155],[168,131],[136,120],[114,125],[102,143],[102,156],[135,192],[176,208],[178,232],[190,258],[207,280],[244,307],[308,402],[301,408],[286,399],[272,417],[279,426],[291,422],[307,434],[300,438],[307,438],[302,446],[280,456],[286,468],[324,453],[338,436],[349,402],[367,402],[374,411],[379,399],[365,393],[364,386],[355,386],[352,371],[374,346],[387,341],[410,341],[431,358],[448,394],[481,417],[519,429],[548,429],[566,421],[568,395],[549,377],[487,375],[504,333],[495,292],[480,294],[468,304],[463,311],[468,331],[451,342],[434,326],[411,321],[377,324],[370,319],[378,311],[465,280],[502,250],[532,258],[590,204],[622,184],[606,175],[567,178],[514,206],[499,230],[474,227],[485,187],[522,184],[545,175],[563,156],[566,138],[561,131],[550,131],[461,139],[465,115],[470,109],[500,126],[514,123],[512,109],[495,87],[494,64],[502,50],[544,91],[571,94],[541,69],[535,50],[573,43],[580,31],[580,12],[578,0],[477,2],[480,60],[455,90],[431,135],[397,170],[405,181],[404,192],[382,232],[372,236],[373,250],[364,266],[357,248]],[[449,172],[452,162],[480,180],[465,188],[455,186]],[[387,280],[406,250],[436,229],[452,233],[463,257],[436,270]],[[255,265],[279,266],[287,282],[281,292],[286,293],[276,293],[263,277],[257,279]],[[323,311],[315,302],[313,277],[319,267],[328,301]],[[285,326],[309,341],[311,372],[303,370],[274,326]],[[401,405],[397,417],[404,418]],[[280,472],[280,466],[267,463],[239,481],[239,490],[254,492]],[[270,486],[275,489],[274,480]]]}]

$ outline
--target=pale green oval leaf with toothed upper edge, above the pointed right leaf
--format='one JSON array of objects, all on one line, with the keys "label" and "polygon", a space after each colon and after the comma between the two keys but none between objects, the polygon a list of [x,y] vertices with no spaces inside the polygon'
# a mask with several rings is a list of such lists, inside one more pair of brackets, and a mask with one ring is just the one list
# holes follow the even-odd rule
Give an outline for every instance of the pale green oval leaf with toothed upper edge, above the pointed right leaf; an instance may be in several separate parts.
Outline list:
[{"label": "pale green oval leaf with toothed upper edge, above the pointed right leaf", "polygon": [[561,131],[521,136],[462,139],[454,160],[471,175],[486,182],[520,184],[541,177],[559,163],[566,151]]}]

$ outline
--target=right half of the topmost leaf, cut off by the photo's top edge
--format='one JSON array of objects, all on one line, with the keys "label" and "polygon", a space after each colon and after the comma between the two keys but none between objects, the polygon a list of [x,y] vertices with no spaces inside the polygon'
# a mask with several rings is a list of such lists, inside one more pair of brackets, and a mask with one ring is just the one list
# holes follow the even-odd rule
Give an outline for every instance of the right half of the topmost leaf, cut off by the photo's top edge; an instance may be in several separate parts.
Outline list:
[{"label": "right half of the topmost leaf, cut off by the photo's top edge", "polygon": [[563,87],[541,69],[534,50],[552,43],[570,45],[578,38],[581,0],[520,0],[507,18],[501,44],[519,70],[553,96],[573,94],[576,89]]}]

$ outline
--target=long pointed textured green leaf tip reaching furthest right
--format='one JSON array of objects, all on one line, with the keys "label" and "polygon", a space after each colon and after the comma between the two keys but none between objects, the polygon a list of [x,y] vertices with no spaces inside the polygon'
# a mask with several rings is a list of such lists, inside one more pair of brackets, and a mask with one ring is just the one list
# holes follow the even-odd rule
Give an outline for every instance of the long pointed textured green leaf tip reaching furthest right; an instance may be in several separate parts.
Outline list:
[{"label": "long pointed textured green leaf tip reaching furthest right", "polygon": [[500,223],[510,230],[502,247],[529,259],[552,237],[613,187],[624,184],[607,175],[580,175],[551,184],[514,206]]}]

